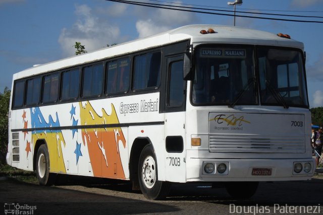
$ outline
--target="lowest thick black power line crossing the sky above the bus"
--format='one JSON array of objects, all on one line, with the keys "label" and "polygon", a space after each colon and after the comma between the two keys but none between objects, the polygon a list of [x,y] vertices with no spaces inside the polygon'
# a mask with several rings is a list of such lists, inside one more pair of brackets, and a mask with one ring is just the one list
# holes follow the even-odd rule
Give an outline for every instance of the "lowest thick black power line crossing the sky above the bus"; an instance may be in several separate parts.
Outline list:
[{"label": "lowest thick black power line crossing the sky above the bus", "polygon": [[[220,16],[236,16],[236,17],[244,17],[244,18],[252,18],[252,19],[266,19],[266,20],[278,20],[278,21],[289,21],[289,22],[323,23],[323,21],[278,19],[278,18],[270,18],[270,17],[254,17],[254,16],[244,16],[244,15],[232,15],[232,14],[213,13],[213,12],[206,12],[206,11],[195,11],[195,10],[186,10],[186,9],[176,9],[174,7],[179,7],[179,6],[161,5],[161,4],[151,4],[151,3],[142,3],[142,2],[134,2],[134,1],[126,1],[126,0],[105,0],[105,1],[117,2],[117,3],[124,3],[124,4],[130,4],[130,5],[145,6],[145,7],[150,7],[150,8],[160,8],[160,9],[168,9],[168,10],[175,10],[175,11],[185,11],[185,12],[193,12],[193,13],[201,13],[201,14],[220,15]],[[185,7],[179,7],[179,8],[185,8]],[[189,8],[189,7],[186,7],[186,8]],[[207,9],[202,9],[202,10],[207,10]],[[230,11],[230,12],[232,12],[232,11]]]}]

